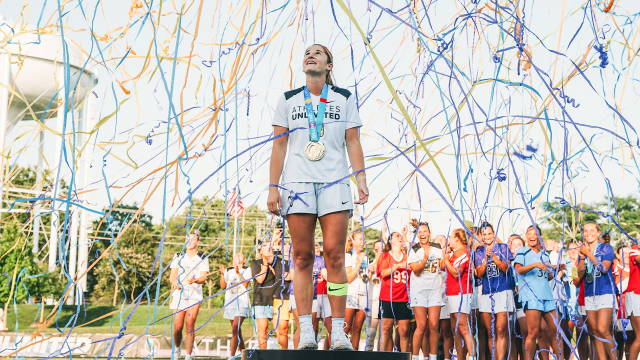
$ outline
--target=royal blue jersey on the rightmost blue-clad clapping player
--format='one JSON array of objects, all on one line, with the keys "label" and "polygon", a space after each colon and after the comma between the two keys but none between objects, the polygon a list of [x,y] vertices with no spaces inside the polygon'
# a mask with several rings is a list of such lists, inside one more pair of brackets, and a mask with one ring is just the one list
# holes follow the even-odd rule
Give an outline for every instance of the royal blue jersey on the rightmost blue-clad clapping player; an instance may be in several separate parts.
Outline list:
[{"label": "royal blue jersey on the rightmost blue-clad clapping player", "polygon": [[[598,242],[596,251],[593,254],[596,257],[597,263],[594,264],[585,258],[587,273],[583,280],[584,282],[584,296],[596,296],[618,293],[618,288],[613,281],[613,247],[609,244],[601,244]],[[582,260],[580,260],[582,261]],[[607,272],[602,272],[598,263],[603,261],[611,261],[611,266]],[[591,276],[589,276],[591,274]],[[589,278],[593,281],[589,282]]]}]

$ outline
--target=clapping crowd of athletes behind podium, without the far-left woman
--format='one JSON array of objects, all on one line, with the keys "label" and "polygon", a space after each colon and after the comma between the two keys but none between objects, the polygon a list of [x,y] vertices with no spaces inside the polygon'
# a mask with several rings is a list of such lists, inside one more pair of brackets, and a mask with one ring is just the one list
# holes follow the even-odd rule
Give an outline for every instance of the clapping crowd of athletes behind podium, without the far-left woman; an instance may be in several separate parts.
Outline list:
[{"label": "clapping crowd of athletes behind podium, without the far-left woman", "polygon": [[[564,245],[541,241],[535,225],[507,241],[487,222],[466,225],[470,232],[435,235],[429,224],[413,220],[388,240],[372,242],[362,229],[348,235],[344,331],[354,349],[411,352],[412,359],[422,354],[430,360],[438,353],[481,360],[638,358],[637,245],[614,249],[596,223],[582,225],[584,242],[569,239]],[[248,317],[260,348],[268,336],[289,347],[289,322],[298,320],[290,286],[295,273],[291,244],[276,229],[261,244],[260,257],[246,262],[238,253],[232,266],[220,266],[221,285],[228,289],[224,318],[232,328],[231,358],[245,347],[240,325]],[[316,242],[313,269],[314,330],[327,349],[332,322],[322,241]],[[298,340],[296,331],[294,348]]]}]

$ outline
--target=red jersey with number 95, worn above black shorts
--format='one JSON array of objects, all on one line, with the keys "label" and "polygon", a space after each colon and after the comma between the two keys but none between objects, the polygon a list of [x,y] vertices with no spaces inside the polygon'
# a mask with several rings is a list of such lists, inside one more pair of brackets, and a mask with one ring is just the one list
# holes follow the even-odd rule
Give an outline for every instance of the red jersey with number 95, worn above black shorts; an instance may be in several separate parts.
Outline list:
[{"label": "red jersey with number 95, worn above black shorts", "polygon": [[396,260],[391,252],[386,252],[380,256],[376,265],[376,273],[382,279],[380,284],[380,300],[391,302],[409,302],[407,287],[409,286],[409,270],[397,269],[390,276],[382,277],[384,269],[393,268],[394,265],[406,264],[407,255],[402,253],[402,258]]}]

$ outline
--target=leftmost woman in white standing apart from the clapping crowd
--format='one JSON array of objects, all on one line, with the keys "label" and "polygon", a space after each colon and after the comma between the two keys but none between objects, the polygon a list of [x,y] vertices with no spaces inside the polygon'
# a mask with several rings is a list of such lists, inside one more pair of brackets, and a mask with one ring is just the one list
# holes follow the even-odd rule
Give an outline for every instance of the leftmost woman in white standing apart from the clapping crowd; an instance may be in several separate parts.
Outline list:
[{"label": "leftmost woman in white standing apart from the clapping crowd", "polygon": [[187,323],[185,360],[191,359],[196,337],[195,324],[202,302],[202,284],[207,280],[209,273],[209,259],[202,258],[202,255],[197,253],[199,243],[200,235],[197,232],[187,234],[185,253],[176,254],[171,261],[170,281],[174,290],[169,308],[173,310],[173,360],[180,358],[185,319]]}]

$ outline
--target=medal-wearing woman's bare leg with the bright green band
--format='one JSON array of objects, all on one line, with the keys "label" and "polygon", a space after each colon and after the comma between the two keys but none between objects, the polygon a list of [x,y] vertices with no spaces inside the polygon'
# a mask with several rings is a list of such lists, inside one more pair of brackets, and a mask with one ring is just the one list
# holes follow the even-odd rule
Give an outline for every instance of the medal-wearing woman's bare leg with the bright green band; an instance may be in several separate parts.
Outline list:
[{"label": "medal-wearing woman's bare leg with the bright green band", "polygon": [[[347,241],[347,226],[349,224],[349,212],[340,211],[324,215],[320,218],[320,227],[324,238],[324,261],[327,266],[327,281],[336,284],[347,283],[347,269],[344,266],[345,246]],[[312,230],[315,229],[315,221]],[[314,251],[313,242],[311,250]],[[313,266],[313,262],[312,262]],[[297,275],[296,275],[297,276]],[[309,277],[311,282],[311,276]],[[313,283],[311,283],[313,286]],[[297,295],[296,295],[297,297]],[[344,318],[347,306],[346,296],[329,295],[331,304],[331,316]]]}]

